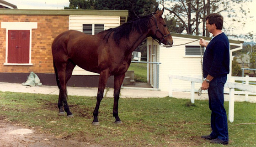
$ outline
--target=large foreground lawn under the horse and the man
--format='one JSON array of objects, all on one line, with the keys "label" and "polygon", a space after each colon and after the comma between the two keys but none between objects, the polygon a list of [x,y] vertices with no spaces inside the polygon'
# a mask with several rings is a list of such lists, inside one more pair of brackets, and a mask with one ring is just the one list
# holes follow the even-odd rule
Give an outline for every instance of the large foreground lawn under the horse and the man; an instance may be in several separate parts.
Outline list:
[{"label": "large foreground lawn under the horse and the man", "polygon": [[[113,98],[101,101],[100,126],[91,125],[95,97],[69,96],[74,118],[57,115],[58,96],[0,91],[0,120],[51,133],[65,139],[77,139],[122,147],[222,147],[201,139],[210,129],[208,101],[187,99],[144,98],[119,100],[122,125],[112,117]],[[228,102],[224,103],[228,110]],[[229,146],[255,147],[256,125],[233,124],[256,122],[256,104],[235,102],[235,122],[229,123]]]}]

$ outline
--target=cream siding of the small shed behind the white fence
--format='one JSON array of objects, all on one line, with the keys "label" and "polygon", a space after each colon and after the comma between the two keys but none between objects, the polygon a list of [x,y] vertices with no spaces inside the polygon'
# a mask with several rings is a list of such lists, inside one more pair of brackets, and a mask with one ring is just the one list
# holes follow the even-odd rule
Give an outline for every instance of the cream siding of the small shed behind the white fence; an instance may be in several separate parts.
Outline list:
[{"label": "cream siding of the small shed behind the white fence", "polygon": [[[194,41],[195,39],[173,37],[175,41],[174,45],[183,44],[186,42]],[[148,39],[148,44],[151,43],[151,39]],[[155,44],[155,43],[154,43]],[[188,45],[198,46],[199,41],[190,43]],[[159,66],[159,89],[161,91],[169,90],[169,77],[168,74],[175,75],[189,75],[189,76],[202,76],[200,56],[186,56],[185,46],[173,46],[166,48],[163,46],[159,47],[157,61],[160,62]],[[172,80],[174,90],[190,90],[190,82],[181,80]],[[195,89],[200,88],[200,84],[195,84]]]}]

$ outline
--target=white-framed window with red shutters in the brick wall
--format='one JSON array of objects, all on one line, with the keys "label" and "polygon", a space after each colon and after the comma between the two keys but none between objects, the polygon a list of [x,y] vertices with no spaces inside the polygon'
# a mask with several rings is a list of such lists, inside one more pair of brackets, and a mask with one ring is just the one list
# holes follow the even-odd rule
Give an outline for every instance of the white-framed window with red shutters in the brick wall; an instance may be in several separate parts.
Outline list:
[{"label": "white-framed window with red shutters in the brick wall", "polygon": [[37,22],[1,22],[1,28],[6,29],[4,65],[32,66],[32,29]]}]

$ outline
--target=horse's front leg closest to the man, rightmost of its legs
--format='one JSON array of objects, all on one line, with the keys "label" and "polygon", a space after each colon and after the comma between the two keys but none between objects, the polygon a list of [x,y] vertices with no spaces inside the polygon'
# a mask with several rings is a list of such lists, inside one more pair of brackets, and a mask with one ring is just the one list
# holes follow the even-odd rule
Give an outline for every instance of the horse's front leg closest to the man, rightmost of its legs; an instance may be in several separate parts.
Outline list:
[{"label": "horse's front leg closest to the man, rightmost of its legs", "polygon": [[120,89],[123,83],[125,73],[122,75],[115,76],[114,80],[114,106],[113,106],[113,117],[115,117],[116,124],[122,124],[122,121],[118,117],[118,101],[120,96]]}]

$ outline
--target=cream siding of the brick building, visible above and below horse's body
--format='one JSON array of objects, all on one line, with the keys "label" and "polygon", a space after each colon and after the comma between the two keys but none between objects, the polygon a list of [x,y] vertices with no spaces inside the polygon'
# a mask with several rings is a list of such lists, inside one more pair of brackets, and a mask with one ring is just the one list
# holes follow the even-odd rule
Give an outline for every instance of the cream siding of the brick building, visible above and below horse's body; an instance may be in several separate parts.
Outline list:
[{"label": "cream siding of the brick building, visible above and below horse's body", "polygon": [[[83,31],[83,24],[103,24],[104,30],[120,25],[120,16],[69,15],[69,30]],[[98,75],[76,66],[72,75]]]}]

